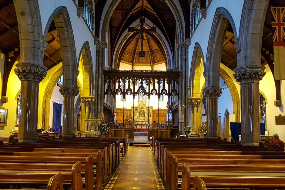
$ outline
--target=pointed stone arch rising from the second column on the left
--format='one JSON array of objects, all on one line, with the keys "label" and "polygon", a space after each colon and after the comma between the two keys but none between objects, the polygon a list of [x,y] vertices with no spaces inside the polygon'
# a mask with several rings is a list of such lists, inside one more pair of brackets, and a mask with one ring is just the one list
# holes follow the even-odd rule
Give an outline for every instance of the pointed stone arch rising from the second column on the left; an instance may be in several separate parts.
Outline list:
[{"label": "pointed stone arch rising from the second column on the left", "polygon": [[78,67],[76,64],[74,35],[67,8],[60,6],[55,9],[47,22],[43,39],[46,39],[52,21],[54,21],[59,35],[60,49],[62,52],[62,84],[66,86],[76,86]]}]

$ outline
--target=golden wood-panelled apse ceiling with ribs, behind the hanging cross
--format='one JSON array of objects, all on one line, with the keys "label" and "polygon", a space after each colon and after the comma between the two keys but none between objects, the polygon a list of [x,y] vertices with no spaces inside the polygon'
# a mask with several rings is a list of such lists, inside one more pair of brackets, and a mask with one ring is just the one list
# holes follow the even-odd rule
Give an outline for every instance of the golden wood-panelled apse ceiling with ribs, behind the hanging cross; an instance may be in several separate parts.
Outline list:
[{"label": "golden wood-panelled apse ceiling with ribs, behind the hanging cross", "polygon": [[139,51],[141,50],[141,34],[136,32],[128,38],[127,42],[125,42],[119,55],[120,62],[132,65],[132,69],[134,69],[135,65],[150,65],[151,70],[153,70],[154,65],[161,63],[165,63],[167,68],[166,55],[159,40],[155,35],[149,32],[145,32],[143,37],[143,51],[145,51],[145,57],[139,57]]}]

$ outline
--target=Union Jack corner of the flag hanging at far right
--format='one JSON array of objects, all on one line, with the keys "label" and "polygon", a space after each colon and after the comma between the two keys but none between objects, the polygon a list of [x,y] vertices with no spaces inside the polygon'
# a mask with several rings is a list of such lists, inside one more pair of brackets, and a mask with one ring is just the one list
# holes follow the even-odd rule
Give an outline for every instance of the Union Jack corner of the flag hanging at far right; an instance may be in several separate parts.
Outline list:
[{"label": "Union Jack corner of the flag hanging at far right", "polygon": [[285,7],[271,7],[273,46],[285,46]]}]

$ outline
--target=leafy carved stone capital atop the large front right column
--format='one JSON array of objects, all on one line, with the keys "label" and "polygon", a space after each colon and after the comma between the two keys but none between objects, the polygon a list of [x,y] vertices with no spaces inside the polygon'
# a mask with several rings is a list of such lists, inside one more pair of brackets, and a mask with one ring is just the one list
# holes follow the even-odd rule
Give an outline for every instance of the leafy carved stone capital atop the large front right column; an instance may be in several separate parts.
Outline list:
[{"label": "leafy carved stone capital atop the large front right column", "polygon": [[238,67],[233,70],[235,72],[233,77],[236,79],[236,82],[239,82],[240,84],[259,83],[266,73],[264,72],[264,69],[265,67],[261,65]]}]

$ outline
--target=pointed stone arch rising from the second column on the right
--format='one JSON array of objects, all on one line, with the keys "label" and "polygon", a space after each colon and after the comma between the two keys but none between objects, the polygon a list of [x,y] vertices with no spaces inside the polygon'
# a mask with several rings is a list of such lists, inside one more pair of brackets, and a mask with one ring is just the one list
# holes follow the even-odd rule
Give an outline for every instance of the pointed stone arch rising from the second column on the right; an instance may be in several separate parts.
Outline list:
[{"label": "pointed stone arch rising from the second column on the right", "polygon": [[233,28],[235,39],[238,39],[236,26],[230,13],[223,7],[218,7],[213,19],[206,55],[206,88],[219,87],[219,70],[222,56],[223,41],[228,24]]}]

